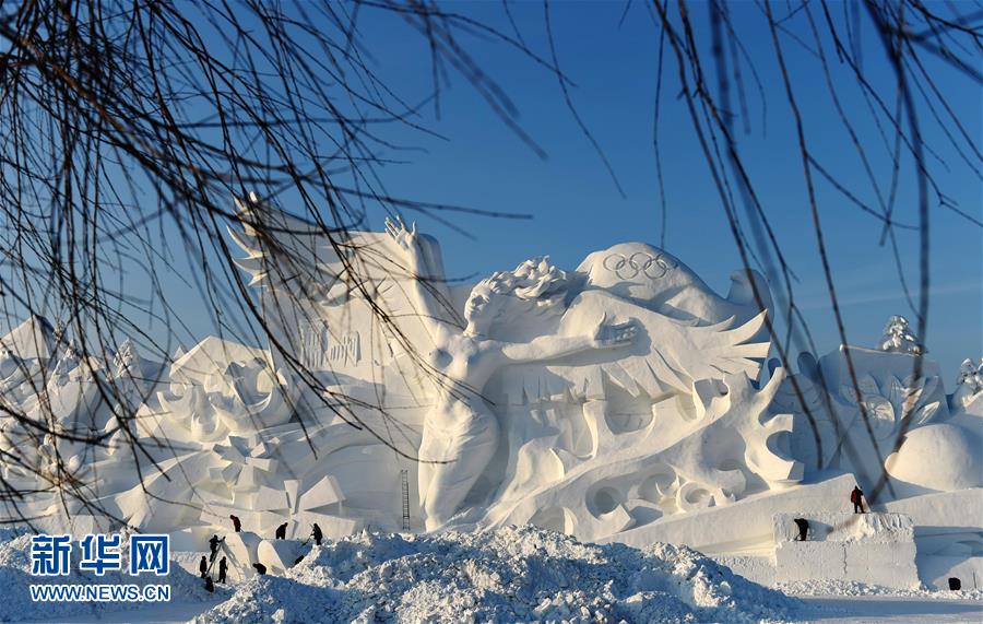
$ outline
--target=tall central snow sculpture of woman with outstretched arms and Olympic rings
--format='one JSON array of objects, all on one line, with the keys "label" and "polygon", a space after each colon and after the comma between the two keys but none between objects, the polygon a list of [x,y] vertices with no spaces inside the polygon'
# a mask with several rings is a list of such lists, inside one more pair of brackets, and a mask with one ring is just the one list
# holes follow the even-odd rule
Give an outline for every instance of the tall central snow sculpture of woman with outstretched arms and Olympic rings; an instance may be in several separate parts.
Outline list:
[{"label": "tall central snow sculpture of woman with outstretched arms and Olympic rings", "polygon": [[[769,349],[753,292],[767,305],[768,291],[757,275],[735,274],[724,299],[676,258],[627,244],[577,271],[540,258],[451,290],[436,242],[389,223],[350,247],[364,269],[379,269],[372,287],[394,319],[387,327],[353,292],[347,259],[300,223],[282,229],[291,234],[280,254],[310,249],[327,286],[295,272],[272,276],[276,251],[248,227],[237,236],[249,254],[244,268],[265,286],[270,308],[294,310],[306,304],[299,293],[327,291],[317,310],[284,323],[281,340],[348,381],[340,391],[384,393],[377,427],[384,412],[400,410],[401,424],[415,417],[412,468],[427,529],[464,511],[459,522],[536,521],[599,538],[797,480],[801,468],[768,443],[791,417],[760,422],[778,382],[750,382]],[[363,350],[372,343],[369,362]],[[366,391],[372,379],[386,384]],[[345,476],[335,476],[345,491]]]}]

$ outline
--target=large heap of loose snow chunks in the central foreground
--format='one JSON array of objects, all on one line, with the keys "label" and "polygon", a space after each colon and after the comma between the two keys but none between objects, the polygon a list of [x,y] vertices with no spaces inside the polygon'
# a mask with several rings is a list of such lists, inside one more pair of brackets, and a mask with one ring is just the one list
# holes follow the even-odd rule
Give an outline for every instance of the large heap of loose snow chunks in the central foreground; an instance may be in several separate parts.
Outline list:
[{"label": "large heap of loose snow chunks in the central foreground", "polygon": [[196,622],[760,622],[798,608],[685,546],[582,544],[528,526],[325,542]]}]

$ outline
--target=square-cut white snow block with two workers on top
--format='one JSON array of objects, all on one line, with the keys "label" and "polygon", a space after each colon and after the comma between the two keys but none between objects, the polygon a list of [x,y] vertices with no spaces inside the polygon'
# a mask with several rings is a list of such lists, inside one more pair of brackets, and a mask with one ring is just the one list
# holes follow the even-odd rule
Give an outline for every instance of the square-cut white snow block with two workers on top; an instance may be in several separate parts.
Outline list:
[{"label": "square-cut white snow block with two workers on top", "polygon": [[[809,521],[795,541],[794,518]],[[853,580],[899,589],[920,586],[914,525],[901,514],[812,514],[774,517],[775,582]]]}]

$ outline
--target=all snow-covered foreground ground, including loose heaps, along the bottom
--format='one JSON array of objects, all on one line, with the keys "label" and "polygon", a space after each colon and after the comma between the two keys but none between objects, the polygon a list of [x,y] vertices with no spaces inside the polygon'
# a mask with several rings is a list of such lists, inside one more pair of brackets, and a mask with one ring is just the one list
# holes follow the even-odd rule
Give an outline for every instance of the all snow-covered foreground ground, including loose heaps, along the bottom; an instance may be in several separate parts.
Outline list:
[{"label": "all snow-covered foreground ground, including loose heaps, along the bottom", "polygon": [[[983,591],[798,582],[782,591],[690,549],[584,544],[535,527],[429,535],[360,533],[313,546],[285,576],[206,593],[173,566],[174,599],[31,602],[29,538],[0,543],[0,621],[58,622],[980,622]],[[70,582],[92,582],[73,572]],[[122,581],[110,575],[99,582]]]}]

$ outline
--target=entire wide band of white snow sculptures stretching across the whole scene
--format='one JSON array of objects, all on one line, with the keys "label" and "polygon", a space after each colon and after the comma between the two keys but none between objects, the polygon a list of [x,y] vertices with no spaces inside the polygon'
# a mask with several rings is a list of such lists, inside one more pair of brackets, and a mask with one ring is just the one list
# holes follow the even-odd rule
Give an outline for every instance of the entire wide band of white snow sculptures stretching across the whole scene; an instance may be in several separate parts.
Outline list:
[{"label": "entire wide band of white snow sculptures stretching across the whole scene", "polygon": [[[840,511],[887,470],[884,510],[933,527],[915,533],[931,574],[981,567],[983,384],[966,364],[947,397],[928,360],[912,379],[922,346],[903,319],[880,349],[850,349],[857,399],[842,350],[803,354],[794,374],[762,367],[771,301],[754,272],[721,297],[679,259],[627,243],[573,270],[536,258],[453,285],[415,226],[325,233],[254,201],[240,210],[230,234],[279,349],[209,338],[166,367],[132,343],[82,362],[28,319],[0,339],[0,400],[111,437],[56,443],[0,416],[0,450],[43,469],[0,454],[8,482],[40,491],[0,514],[57,526],[60,461],[115,516],[188,548],[229,514],[265,537],[284,522],[301,538],[312,522],[329,537],[399,530],[406,471],[416,531],[531,522],[754,553],[774,548],[775,514]],[[150,458],[126,450],[104,380],[126,387]]]}]

